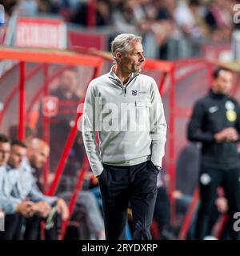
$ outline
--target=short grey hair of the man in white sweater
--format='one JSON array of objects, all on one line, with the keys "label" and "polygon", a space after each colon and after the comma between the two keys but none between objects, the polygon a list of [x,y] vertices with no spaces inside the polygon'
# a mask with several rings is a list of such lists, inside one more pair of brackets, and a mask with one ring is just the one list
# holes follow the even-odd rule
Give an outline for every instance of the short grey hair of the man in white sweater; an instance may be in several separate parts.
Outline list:
[{"label": "short grey hair of the man in white sweater", "polygon": [[118,34],[116,38],[111,42],[111,52],[114,59],[116,52],[124,53],[131,50],[132,46],[130,42],[142,42],[142,37],[135,34]]}]

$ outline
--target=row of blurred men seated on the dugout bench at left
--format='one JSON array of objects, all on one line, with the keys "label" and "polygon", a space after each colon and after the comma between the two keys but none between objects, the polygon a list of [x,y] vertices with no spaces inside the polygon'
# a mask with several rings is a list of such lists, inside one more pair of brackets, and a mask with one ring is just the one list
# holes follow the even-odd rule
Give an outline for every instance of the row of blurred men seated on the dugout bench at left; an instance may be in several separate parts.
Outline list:
[{"label": "row of blurred men seated on the dugout bench at left", "polygon": [[[58,240],[62,221],[68,219],[66,239],[103,239],[102,214],[92,192],[81,191],[71,216],[67,205],[72,190],[43,194],[42,170],[49,154],[48,144],[30,134],[26,142],[0,134],[0,212],[5,230],[0,240]],[[43,233],[41,222],[45,223]]]}]

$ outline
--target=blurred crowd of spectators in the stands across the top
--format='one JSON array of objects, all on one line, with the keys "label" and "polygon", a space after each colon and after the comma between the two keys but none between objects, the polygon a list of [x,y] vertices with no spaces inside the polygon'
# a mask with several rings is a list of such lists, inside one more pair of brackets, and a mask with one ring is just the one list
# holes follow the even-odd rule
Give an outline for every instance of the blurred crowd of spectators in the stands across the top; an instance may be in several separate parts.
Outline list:
[{"label": "blurred crowd of spectators in the stands across the top", "polygon": [[[6,14],[60,14],[66,22],[88,26],[95,10],[95,26],[120,32],[155,35],[161,46],[168,38],[230,40],[236,0],[3,0]],[[90,1],[89,1],[90,2]]]}]

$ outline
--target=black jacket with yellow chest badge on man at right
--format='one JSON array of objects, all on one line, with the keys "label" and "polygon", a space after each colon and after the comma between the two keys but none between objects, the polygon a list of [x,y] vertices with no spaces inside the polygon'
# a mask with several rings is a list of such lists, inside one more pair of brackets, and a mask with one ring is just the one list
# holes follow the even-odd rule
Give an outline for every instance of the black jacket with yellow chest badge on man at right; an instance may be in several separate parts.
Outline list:
[{"label": "black jacket with yellow chest badge on man at right", "polygon": [[202,142],[202,164],[220,169],[240,167],[237,142],[217,142],[214,134],[234,127],[240,138],[240,108],[238,103],[223,94],[210,93],[194,105],[187,136],[190,141]]}]

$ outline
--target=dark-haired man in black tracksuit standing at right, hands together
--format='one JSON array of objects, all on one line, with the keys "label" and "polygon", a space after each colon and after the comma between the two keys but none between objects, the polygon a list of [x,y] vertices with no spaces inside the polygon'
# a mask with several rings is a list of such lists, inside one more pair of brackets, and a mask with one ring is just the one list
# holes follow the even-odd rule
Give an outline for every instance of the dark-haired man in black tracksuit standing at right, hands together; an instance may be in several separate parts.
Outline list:
[{"label": "dark-haired man in black tracksuit standing at right, hands together", "polygon": [[240,109],[238,103],[227,96],[231,86],[231,72],[222,68],[215,70],[210,93],[196,102],[188,126],[189,140],[202,142],[197,239],[207,234],[218,186],[224,187],[228,200],[230,236],[238,239],[238,233],[233,229],[233,216],[240,211],[240,161],[237,148]]}]

